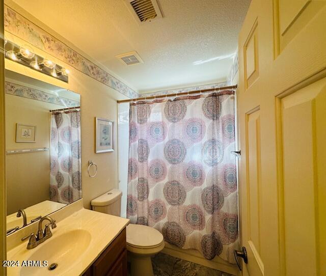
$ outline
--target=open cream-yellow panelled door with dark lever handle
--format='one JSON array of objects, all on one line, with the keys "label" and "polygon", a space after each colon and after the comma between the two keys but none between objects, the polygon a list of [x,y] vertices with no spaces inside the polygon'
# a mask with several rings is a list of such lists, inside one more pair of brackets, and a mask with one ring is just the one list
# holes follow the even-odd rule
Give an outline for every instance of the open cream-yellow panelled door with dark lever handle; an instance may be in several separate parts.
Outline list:
[{"label": "open cream-yellow panelled door with dark lever handle", "polygon": [[242,274],[325,276],[325,1],[252,0],[237,96]]}]

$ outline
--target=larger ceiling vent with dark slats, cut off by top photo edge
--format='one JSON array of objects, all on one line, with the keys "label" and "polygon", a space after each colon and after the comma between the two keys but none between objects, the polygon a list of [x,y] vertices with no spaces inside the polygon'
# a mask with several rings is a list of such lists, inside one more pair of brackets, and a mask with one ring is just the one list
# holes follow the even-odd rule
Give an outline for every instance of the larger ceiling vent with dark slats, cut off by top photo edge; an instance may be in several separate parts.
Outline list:
[{"label": "larger ceiling vent with dark slats, cut off by top photo edge", "polygon": [[161,11],[156,0],[126,0],[140,22],[152,21],[162,17]]}]

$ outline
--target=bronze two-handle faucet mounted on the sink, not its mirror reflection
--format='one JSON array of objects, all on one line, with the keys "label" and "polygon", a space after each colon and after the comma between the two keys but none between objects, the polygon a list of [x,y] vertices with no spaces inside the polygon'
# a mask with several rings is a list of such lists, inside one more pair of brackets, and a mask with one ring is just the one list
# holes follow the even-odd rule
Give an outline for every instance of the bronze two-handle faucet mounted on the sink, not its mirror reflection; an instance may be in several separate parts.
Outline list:
[{"label": "bronze two-handle faucet mounted on the sink, not its mirror reflection", "polygon": [[[43,220],[48,220],[50,223],[45,225],[44,231],[42,230],[42,223]],[[30,238],[29,243],[27,244],[27,249],[33,249],[43,241],[47,240],[48,238],[52,237],[52,232],[49,228],[51,225],[51,228],[56,228],[56,220],[52,219],[49,216],[44,216],[39,221],[39,230],[37,232],[37,235],[35,233],[31,233],[30,235],[23,237],[21,240],[24,241],[28,238]]]}]

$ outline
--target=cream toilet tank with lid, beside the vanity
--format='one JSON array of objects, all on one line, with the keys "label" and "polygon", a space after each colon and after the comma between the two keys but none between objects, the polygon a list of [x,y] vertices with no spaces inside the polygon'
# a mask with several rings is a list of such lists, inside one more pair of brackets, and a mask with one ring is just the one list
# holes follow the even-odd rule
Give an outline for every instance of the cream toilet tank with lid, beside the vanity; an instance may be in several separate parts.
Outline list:
[{"label": "cream toilet tank with lid, beside the vanity", "polygon": [[120,216],[122,191],[112,189],[91,201],[92,210]]}]

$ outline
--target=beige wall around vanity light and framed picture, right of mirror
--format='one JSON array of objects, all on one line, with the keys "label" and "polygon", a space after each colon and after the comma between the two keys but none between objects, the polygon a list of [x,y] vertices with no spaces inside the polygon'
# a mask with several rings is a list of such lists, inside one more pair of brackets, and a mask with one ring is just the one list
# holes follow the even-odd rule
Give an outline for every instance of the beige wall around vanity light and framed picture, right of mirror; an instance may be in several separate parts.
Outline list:
[{"label": "beige wall around vanity light and framed picture, right of mirror", "polygon": [[[15,7],[12,7],[15,9]],[[51,32],[49,28],[38,22],[37,19],[31,15],[19,10],[29,20],[37,23],[49,33],[60,38],[57,34]],[[8,40],[16,44],[28,44],[26,41],[5,32]],[[62,39],[63,42],[69,43]],[[29,45],[29,44],[28,44]],[[18,72],[20,74],[28,75],[33,78],[40,79],[50,84],[69,89],[81,95],[81,114],[82,114],[82,182],[83,182],[83,199],[86,208],[90,208],[90,202],[95,197],[103,194],[105,191],[112,188],[117,188],[118,183],[118,151],[117,151],[117,99],[125,99],[125,96],[116,90],[107,87],[101,82],[85,75],[84,73],[70,67],[56,57],[52,57],[46,52],[33,46],[37,54],[43,57],[48,57],[53,62],[61,66],[69,68],[69,84],[57,80],[53,77],[44,75],[35,70],[26,68],[20,64],[10,60],[5,61],[6,69]],[[106,118],[114,121],[114,140],[115,151],[108,153],[95,153],[95,117]],[[87,174],[88,160],[97,163],[98,173],[95,178],[90,178]]]}]

